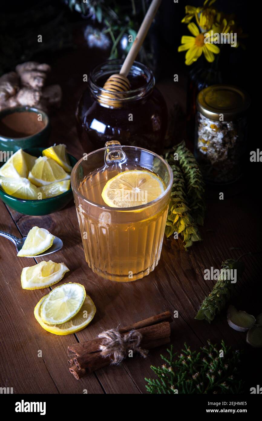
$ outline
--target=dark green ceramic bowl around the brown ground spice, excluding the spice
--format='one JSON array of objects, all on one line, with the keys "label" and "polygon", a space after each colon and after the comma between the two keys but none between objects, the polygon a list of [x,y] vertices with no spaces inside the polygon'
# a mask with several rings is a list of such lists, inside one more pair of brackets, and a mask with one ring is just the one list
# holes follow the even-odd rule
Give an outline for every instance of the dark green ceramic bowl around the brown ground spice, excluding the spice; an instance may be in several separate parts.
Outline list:
[{"label": "dark green ceramic bowl around the brown ground spice, excluding the spice", "polygon": [[13,152],[15,153],[20,148],[27,149],[33,147],[40,147],[45,146],[47,144],[48,138],[50,136],[50,123],[48,115],[37,108],[32,107],[12,107],[12,108],[5,108],[0,111],[0,120],[6,115],[12,114],[14,112],[34,112],[36,114],[42,114],[42,121],[45,123],[45,127],[38,133],[32,134],[26,137],[6,137],[2,136],[0,133],[0,151],[6,152]]}]

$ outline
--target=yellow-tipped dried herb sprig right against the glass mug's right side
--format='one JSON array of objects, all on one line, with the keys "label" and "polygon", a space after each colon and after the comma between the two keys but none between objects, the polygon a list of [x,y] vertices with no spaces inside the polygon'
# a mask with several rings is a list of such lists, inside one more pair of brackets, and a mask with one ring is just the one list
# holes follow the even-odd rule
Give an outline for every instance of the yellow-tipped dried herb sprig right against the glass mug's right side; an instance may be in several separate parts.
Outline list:
[{"label": "yellow-tipped dried herb sprig right against the glass mug's right side", "polygon": [[166,154],[165,159],[171,166],[174,176],[165,234],[167,237],[174,232],[181,234],[185,248],[188,248],[194,241],[201,240],[200,233],[188,205],[187,187],[183,173],[170,152]]}]

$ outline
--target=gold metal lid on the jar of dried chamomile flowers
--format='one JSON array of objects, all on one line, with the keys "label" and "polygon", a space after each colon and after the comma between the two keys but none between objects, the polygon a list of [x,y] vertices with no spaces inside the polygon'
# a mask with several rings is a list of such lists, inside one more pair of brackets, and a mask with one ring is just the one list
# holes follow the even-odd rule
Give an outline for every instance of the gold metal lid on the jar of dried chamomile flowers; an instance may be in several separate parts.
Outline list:
[{"label": "gold metal lid on the jar of dried chamomile flowers", "polygon": [[249,108],[250,96],[232,85],[212,85],[198,93],[196,107],[211,120],[232,121],[241,117]]}]

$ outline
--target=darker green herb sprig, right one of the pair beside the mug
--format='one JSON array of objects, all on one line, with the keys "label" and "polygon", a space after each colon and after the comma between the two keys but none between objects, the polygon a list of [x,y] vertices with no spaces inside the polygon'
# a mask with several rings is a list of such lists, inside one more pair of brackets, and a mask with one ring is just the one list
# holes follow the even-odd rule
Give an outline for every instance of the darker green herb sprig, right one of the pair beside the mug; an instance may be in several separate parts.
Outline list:
[{"label": "darker green herb sprig, right one of the pair beside the mug", "polygon": [[184,141],[175,147],[175,152],[177,152],[179,165],[185,176],[191,215],[196,221],[196,224],[203,225],[205,214],[205,190],[200,168],[192,152],[185,146]]}]

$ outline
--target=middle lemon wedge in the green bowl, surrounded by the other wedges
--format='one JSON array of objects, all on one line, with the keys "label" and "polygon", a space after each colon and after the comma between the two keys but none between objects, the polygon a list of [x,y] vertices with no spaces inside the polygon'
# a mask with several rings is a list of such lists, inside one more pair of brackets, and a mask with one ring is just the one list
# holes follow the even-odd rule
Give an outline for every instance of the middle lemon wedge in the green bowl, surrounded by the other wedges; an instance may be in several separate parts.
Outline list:
[{"label": "middle lemon wedge in the green bowl, surrounded by the other wedges", "polygon": [[39,157],[29,172],[28,179],[35,186],[41,187],[56,181],[69,180],[70,176],[52,158]]}]

